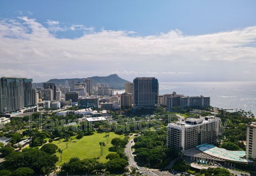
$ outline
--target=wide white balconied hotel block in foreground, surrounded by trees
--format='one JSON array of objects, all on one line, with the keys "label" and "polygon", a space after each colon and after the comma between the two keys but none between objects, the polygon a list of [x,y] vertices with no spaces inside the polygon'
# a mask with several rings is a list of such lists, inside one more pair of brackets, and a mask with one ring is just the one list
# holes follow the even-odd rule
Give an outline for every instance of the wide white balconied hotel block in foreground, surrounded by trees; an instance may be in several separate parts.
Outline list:
[{"label": "wide white balconied hotel block in foreground, surrounded by trees", "polygon": [[173,150],[187,150],[197,145],[214,144],[219,135],[220,118],[214,116],[188,118],[185,122],[169,123],[167,144]]}]

